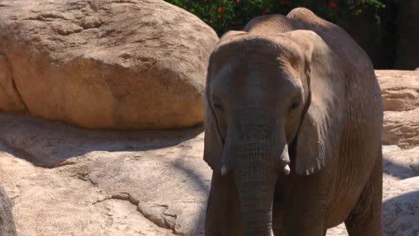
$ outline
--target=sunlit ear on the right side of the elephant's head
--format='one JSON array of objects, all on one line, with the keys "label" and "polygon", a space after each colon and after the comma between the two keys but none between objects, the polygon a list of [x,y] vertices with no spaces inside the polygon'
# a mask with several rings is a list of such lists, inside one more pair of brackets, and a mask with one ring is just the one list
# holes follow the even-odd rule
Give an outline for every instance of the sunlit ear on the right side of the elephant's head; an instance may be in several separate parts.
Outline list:
[{"label": "sunlit ear on the right side of the elephant's head", "polygon": [[[310,53],[305,58],[308,96],[296,136],[296,173],[311,175],[338,155],[346,103],[340,60],[316,33],[305,31]],[[306,50],[307,52],[307,50]]]}]

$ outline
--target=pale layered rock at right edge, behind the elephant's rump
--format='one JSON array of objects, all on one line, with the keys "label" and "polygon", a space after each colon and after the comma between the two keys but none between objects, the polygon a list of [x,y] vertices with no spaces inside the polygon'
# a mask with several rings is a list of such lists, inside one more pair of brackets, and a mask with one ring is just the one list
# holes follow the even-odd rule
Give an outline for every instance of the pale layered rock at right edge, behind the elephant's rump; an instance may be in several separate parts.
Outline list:
[{"label": "pale layered rock at right edge, behind the elephant's rump", "polygon": [[382,144],[419,146],[419,72],[376,70],[384,103]]}]

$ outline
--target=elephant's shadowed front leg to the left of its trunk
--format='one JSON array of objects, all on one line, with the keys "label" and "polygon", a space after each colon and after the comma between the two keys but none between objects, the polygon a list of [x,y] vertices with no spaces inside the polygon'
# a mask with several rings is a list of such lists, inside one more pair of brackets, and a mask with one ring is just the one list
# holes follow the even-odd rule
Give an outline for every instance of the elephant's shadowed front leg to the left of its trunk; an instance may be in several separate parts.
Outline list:
[{"label": "elephant's shadowed front leg to the left of its trunk", "polygon": [[243,235],[240,201],[232,175],[212,174],[205,236]]}]

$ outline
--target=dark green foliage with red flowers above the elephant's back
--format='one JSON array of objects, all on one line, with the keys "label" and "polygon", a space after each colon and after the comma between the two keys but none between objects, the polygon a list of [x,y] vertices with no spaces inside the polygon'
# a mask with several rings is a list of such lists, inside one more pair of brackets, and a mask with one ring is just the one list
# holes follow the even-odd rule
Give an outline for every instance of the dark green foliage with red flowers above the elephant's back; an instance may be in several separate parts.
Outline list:
[{"label": "dark green foliage with red flowers above the elephant's back", "polygon": [[362,14],[367,8],[378,11],[385,8],[384,0],[166,0],[195,14],[218,35],[227,30],[241,30],[254,17],[263,14],[287,14],[293,8],[304,6],[318,16],[332,22]]}]

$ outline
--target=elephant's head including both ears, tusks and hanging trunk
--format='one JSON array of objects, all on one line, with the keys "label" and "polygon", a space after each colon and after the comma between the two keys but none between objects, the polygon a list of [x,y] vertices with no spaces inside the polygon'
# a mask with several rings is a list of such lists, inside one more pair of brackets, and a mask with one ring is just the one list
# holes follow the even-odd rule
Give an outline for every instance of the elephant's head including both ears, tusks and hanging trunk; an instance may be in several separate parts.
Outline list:
[{"label": "elephant's head including both ears, tusks and hanging trunk", "polygon": [[280,173],[311,175],[334,156],[345,97],[338,61],[309,30],[233,31],[212,52],[204,159],[214,172],[232,175],[243,235],[270,235]]}]

